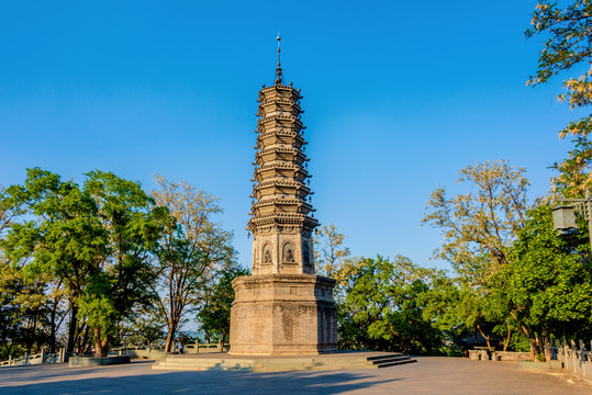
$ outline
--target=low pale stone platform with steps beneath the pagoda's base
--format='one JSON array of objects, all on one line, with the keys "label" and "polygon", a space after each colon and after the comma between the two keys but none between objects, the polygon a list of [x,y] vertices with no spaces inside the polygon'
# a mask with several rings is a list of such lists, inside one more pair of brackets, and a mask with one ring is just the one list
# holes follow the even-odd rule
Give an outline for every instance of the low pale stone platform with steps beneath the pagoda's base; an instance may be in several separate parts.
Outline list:
[{"label": "low pale stone platform with steps beneath the pagoda's base", "polygon": [[399,352],[344,351],[319,356],[230,356],[225,352],[171,354],[152,369],[176,371],[288,372],[345,369],[380,369],[417,362]]}]

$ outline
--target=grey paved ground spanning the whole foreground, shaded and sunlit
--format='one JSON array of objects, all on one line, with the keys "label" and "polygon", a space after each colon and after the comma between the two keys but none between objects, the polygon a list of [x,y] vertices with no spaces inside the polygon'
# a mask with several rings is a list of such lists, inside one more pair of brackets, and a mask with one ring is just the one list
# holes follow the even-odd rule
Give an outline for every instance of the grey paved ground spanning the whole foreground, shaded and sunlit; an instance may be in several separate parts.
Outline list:
[{"label": "grey paved ground spanning the whole foreground, shaded and sunlit", "polygon": [[0,394],[592,394],[591,385],[565,374],[453,358],[377,370],[281,373],[155,371],[150,364],[3,368]]}]

